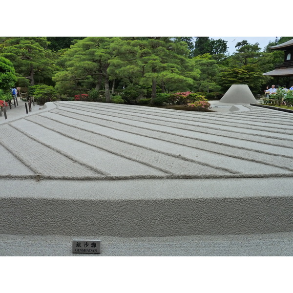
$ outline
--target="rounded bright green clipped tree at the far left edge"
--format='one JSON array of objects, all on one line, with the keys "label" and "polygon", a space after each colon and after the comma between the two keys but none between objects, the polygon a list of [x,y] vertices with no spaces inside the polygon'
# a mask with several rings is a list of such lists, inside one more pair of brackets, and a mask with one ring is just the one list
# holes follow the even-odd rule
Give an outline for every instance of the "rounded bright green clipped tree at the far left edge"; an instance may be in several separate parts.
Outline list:
[{"label": "rounded bright green clipped tree at the far left edge", "polygon": [[16,82],[13,64],[8,59],[0,57],[0,89],[12,88]]}]

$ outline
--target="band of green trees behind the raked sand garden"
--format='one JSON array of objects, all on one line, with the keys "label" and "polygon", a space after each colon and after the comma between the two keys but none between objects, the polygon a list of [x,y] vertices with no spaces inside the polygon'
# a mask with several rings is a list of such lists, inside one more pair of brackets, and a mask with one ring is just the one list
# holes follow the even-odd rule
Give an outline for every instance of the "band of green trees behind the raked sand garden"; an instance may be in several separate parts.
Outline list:
[{"label": "band of green trees behind the raked sand garden", "polygon": [[[248,84],[257,94],[274,82],[263,73],[283,62],[283,52],[269,46],[292,38],[263,51],[243,40],[229,55],[227,41],[209,37],[0,37],[0,89],[14,84],[33,92],[42,85],[63,99],[91,94],[127,103],[132,95],[150,104],[158,94],[216,95],[231,84]],[[5,70],[9,81],[1,79]]]}]

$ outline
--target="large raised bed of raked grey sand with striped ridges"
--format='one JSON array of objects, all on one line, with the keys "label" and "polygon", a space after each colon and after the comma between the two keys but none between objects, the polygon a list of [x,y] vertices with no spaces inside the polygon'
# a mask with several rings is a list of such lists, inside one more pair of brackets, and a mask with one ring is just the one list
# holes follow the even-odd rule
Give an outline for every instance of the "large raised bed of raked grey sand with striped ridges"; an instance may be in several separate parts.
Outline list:
[{"label": "large raised bed of raked grey sand with striped ridges", "polygon": [[55,102],[1,123],[0,234],[293,232],[293,114],[238,107]]}]

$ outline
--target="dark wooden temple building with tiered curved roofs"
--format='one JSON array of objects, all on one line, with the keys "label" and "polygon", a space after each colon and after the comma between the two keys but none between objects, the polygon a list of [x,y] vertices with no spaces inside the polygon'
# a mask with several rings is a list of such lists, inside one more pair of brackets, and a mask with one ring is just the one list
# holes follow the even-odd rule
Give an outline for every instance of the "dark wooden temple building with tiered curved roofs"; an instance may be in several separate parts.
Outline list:
[{"label": "dark wooden temple building with tiered curved roofs", "polygon": [[[287,86],[293,85],[293,39],[284,42],[282,44],[270,47],[272,50],[285,51],[284,62],[275,64],[275,69],[264,73],[263,75],[268,75],[279,78],[286,78]],[[289,84],[288,84],[289,83]]]}]

